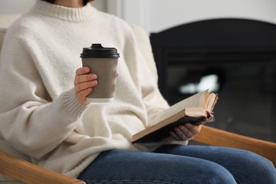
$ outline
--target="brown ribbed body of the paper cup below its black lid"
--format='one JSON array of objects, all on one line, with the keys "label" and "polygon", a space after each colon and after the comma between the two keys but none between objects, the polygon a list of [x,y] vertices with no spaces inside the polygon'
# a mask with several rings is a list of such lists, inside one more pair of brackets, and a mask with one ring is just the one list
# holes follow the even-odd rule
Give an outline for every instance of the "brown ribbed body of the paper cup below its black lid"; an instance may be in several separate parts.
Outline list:
[{"label": "brown ribbed body of the paper cup below its black lid", "polygon": [[98,85],[87,98],[114,98],[117,78],[117,58],[82,58],[83,67],[98,76]]}]

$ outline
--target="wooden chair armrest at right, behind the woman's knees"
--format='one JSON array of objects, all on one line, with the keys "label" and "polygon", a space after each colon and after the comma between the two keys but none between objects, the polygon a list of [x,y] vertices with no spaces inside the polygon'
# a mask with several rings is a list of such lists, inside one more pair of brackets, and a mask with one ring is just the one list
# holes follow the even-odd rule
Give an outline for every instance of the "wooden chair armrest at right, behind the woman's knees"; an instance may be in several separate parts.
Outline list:
[{"label": "wooden chair armrest at right, behind the woman's knees", "polygon": [[276,166],[276,143],[274,142],[254,139],[208,126],[203,126],[194,140],[214,146],[227,146],[252,151],[269,159]]}]

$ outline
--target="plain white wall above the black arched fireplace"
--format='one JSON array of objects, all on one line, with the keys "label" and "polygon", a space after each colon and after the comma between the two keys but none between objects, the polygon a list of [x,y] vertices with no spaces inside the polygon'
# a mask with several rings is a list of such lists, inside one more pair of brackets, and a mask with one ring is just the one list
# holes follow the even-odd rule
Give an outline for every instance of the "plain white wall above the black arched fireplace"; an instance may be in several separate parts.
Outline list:
[{"label": "plain white wall above the black arched fireplace", "polygon": [[120,16],[143,25],[150,33],[208,18],[249,18],[276,24],[275,0],[108,1],[118,1],[123,11]]}]

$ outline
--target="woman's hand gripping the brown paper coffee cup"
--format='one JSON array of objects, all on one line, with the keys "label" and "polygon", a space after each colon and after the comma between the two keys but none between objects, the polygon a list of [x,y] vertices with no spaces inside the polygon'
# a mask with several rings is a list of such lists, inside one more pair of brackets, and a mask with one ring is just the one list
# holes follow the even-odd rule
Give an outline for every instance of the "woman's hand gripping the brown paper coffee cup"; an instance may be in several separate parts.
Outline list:
[{"label": "woman's hand gripping the brown paper coffee cup", "polygon": [[90,69],[88,67],[79,68],[76,70],[74,80],[76,98],[79,103],[87,105],[86,96],[93,91],[93,87],[98,84],[96,74],[88,74]]}]

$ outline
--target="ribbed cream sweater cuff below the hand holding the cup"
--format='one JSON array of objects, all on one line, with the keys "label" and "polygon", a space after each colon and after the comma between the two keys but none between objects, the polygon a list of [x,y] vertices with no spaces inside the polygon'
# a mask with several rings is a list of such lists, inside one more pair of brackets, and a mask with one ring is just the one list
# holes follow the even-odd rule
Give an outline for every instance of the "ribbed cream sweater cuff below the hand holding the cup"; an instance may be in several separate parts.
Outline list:
[{"label": "ribbed cream sweater cuff below the hand holding the cup", "polygon": [[68,112],[74,117],[80,117],[87,108],[87,105],[79,103],[79,100],[76,98],[74,88],[69,91],[65,91],[62,98],[65,108],[67,108]]}]

